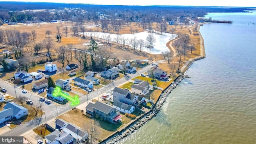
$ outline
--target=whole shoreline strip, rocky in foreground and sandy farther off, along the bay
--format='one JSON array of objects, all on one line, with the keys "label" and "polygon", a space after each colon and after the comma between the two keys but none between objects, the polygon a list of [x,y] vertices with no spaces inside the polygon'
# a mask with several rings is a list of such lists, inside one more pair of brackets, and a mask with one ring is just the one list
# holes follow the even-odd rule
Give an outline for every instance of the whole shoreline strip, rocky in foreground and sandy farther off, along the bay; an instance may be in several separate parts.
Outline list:
[{"label": "whole shoreline strip, rocky in foreground and sandy farther off, along the bay", "polygon": [[[200,26],[199,26],[199,30],[200,30]],[[200,36],[200,56],[195,58],[190,58],[186,62],[186,64],[184,64],[184,66],[181,68],[182,75],[178,76],[166,89],[162,91],[158,100],[156,101],[156,104],[150,111],[148,111],[143,116],[134,120],[131,124],[128,124],[125,128],[122,128],[122,130],[114,132],[113,134],[111,134],[110,136],[108,136],[98,144],[114,144],[122,140],[123,138],[126,138],[136,130],[138,130],[141,126],[146,124],[149,120],[151,120],[158,114],[158,112],[161,110],[162,106],[164,105],[166,98],[169,96],[172,90],[176,88],[176,86],[184,78],[190,78],[188,75],[186,75],[186,71],[188,70],[188,68],[190,68],[190,66],[193,64],[194,61],[201,60],[206,57],[205,48],[204,48],[204,39],[199,30],[198,32]]]}]

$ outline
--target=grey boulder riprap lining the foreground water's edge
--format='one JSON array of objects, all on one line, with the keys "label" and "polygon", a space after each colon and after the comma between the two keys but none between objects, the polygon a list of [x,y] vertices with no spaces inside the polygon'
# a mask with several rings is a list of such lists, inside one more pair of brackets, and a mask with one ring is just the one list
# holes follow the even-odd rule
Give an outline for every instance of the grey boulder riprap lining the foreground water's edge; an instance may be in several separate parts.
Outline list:
[{"label": "grey boulder riprap lining the foreground water's edge", "polygon": [[162,94],[160,94],[158,101],[156,102],[156,104],[154,105],[154,108],[150,112],[148,112],[147,114],[145,114],[144,116],[139,118],[136,122],[132,123],[130,126],[125,128],[121,132],[115,134],[114,136],[111,136],[110,138],[104,140],[105,142],[102,141],[101,143],[102,144],[115,144],[116,142],[129,136],[130,134],[135,132],[135,130],[138,130],[141,126],[143,126],[149,120],[154,118],[156,116],[156,114],[158,114],[158,112],[161,110],[168,95],[172,92],[172,90],[174,88],[176,88],[176,86],[179,84],[179,82],[181,82],[184,78],[190,78],[190,77],[188,75],[179,76],[174,82],[172,82],[172,84],[170,84],[170,86],[168,86],[162,92]]}]

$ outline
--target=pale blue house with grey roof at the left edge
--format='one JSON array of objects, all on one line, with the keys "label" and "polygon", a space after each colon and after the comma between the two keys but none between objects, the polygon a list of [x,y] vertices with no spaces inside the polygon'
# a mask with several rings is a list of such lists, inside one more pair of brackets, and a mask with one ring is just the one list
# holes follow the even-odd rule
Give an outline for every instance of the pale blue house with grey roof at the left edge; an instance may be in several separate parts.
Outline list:
[{"label": "pale blue house with grey roof at the left edge", "polygon": [[20,106],[14,102],[8,102],[4,106],[4,110],[0,111],[0,124],[10,120],[11,118],[21,118],[22,116],[28,115],[28,109]]}]

